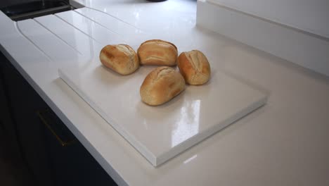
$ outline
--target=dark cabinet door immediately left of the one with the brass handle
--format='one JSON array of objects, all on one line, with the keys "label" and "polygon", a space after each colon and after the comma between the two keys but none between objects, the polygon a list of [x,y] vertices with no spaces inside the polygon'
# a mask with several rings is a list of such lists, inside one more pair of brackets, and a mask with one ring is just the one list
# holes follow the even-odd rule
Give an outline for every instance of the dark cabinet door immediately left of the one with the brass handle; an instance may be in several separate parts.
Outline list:
[{"label": "dark cabinet door immediately left of the one with the brass handle", "polygon": [[22,157],[39,185],[53,185],[51,167],[46,156],[44,130],[36,111],[47,108],[9,61],[3,64],[4,81],[15,120]]}]

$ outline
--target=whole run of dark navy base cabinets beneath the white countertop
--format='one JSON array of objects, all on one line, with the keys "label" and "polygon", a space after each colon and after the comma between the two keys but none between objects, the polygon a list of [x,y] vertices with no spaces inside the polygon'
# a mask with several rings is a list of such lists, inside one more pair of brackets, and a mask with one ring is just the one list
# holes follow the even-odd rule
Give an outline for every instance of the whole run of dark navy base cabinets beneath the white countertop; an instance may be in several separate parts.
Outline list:
[{"label": "whole run of dark navy base cabinets beneath the white countertop", "polygon": [[8,103],[6,115],[13,118],[6,125],[15,128],[11,136],[36,185],[116,185],[2,54],[0,70],[0,96],[7,95],[1,99]]}]

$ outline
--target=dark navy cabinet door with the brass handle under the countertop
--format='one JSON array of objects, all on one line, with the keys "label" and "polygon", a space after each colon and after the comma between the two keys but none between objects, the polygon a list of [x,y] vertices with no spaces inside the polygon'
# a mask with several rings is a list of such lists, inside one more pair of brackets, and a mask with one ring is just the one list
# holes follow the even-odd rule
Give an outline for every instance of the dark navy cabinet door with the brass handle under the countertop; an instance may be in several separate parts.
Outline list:
[{"label": "dark navy cabinet door with the brass handle under the countertop", "polygon": [[51,110],[41,111],[56,185],[116,185]]}]

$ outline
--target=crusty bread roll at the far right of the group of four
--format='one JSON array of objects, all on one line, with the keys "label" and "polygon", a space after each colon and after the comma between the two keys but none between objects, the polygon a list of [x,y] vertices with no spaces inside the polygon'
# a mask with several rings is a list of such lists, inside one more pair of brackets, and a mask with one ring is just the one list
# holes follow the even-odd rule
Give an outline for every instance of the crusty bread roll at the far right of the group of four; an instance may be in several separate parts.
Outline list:
[{"label": "crusty bread roll at the far right of the group of four", "polygon": [[190,85],[203,85],[209,80],[210,65],[201,51],[182,52],[177,60],[177,66]]}]

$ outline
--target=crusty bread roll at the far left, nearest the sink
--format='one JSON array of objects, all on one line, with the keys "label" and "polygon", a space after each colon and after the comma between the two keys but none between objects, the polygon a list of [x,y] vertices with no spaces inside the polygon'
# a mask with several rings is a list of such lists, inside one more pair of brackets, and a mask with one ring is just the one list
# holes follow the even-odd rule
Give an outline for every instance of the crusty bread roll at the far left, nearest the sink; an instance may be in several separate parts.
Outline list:
[{"label": "crusty bread roll at the far left, nearest the sink", "polygon": [[139,67],[136,52],[127,44],[106,45],[99,58],[104,66],[121,75],[134,73]]}]

